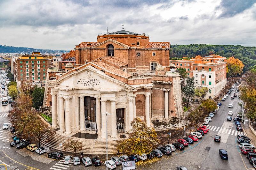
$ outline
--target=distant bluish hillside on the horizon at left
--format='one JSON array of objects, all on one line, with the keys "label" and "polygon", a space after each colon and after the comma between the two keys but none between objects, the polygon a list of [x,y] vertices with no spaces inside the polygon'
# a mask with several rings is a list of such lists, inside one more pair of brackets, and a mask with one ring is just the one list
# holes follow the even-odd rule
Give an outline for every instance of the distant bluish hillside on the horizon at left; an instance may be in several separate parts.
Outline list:
[{"label": "distant bluish hillside on the horizon at left", "polygon": [[0,53],[31,53],[31,52],[41,52],[41,53],[66,53],[66,50],[52,50],[52,49],[36,49],[27,47],[12,47],[12,46],[2,46],[0,45]]}]

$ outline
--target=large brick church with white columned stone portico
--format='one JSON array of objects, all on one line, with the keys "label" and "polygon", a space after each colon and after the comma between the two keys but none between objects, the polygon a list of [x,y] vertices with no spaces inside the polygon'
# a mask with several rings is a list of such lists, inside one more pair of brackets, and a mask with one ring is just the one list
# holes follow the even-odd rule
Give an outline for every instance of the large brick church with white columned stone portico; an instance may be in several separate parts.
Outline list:
[{"label": "large brick church with white columned stone portico", "polygon": [[107,130],[117,138],[135,117],[148,127],[185,124],[180,76],[170,71],[169,50],[170,42],[149,42],[147,34],[124,30],[76,45],[75,67],[47,82],[44,105],[52,107],[52,126],[65,134],[97,129],[100,138]]}]

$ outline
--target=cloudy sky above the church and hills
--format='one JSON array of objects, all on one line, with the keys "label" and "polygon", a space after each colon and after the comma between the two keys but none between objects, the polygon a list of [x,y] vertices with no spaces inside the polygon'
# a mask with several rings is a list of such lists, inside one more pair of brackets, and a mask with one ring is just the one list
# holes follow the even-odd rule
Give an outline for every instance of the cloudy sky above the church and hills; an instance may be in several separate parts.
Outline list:
[{"label": "cloudy sky above the church and hills", "polygon": [[256,46],[256,0],[0,0],[0,45],[70,50],[122,29],[171,44]]}]

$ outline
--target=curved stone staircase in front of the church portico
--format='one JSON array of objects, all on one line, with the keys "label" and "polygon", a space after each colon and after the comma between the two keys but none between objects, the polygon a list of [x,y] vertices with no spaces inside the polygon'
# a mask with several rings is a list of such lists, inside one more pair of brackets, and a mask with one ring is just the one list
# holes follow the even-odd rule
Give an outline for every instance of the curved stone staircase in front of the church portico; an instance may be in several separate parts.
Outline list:
[{"label": "curved stone staircase in front of the church portico", "polygon": [[[52,149],[61,150],[60,144],[64,144],[63,142],[67,137],[62,136],[61,133],[57,132],[50,140],[50,142],[46,142],[45,139],[42,139],[42,144]],[[82,150],[78,150],[77,153],[83,151],[85,154],[92,155],[101,155],[106,154],[106,140],[97,140],[97,139],[84,139],[73,137],[75,140],[81,140],[83,142]],[[108,154],[116,154],[117,153],[117,145],[118,140],[108,140]],[[74,151],[68,149],[67,152]]]}]

